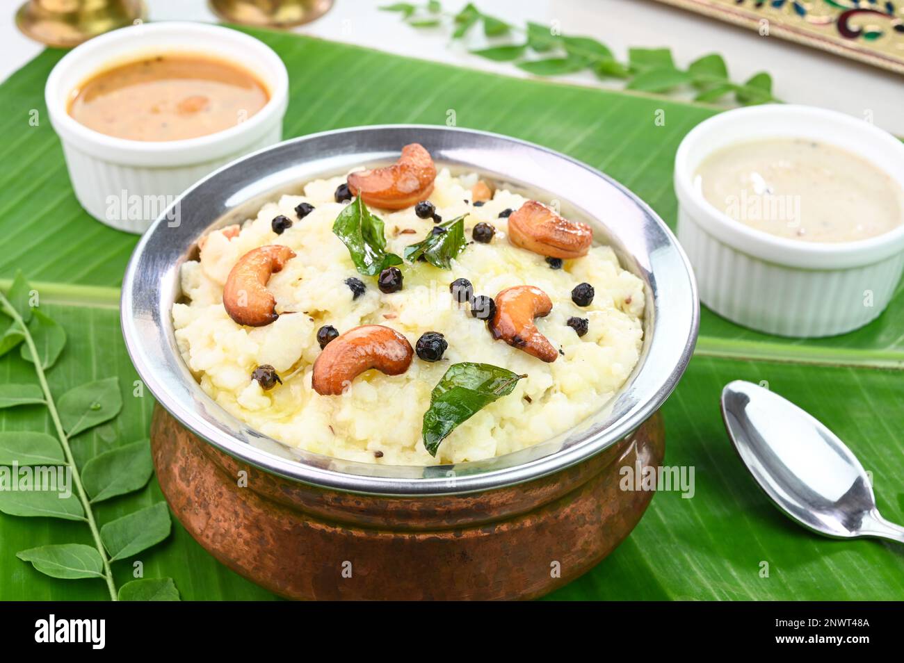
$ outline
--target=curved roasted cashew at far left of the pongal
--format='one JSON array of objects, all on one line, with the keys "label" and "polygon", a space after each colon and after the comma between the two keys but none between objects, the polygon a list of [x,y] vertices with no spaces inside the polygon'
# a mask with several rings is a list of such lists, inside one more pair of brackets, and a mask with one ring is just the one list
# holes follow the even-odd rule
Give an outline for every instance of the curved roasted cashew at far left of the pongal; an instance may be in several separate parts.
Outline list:
[{"label": "curved roasted cashew at far left of the pongal", "polygon": [[263,327],[276,320],[276,299],[267,290],[270,275],[280,271],[295,251],[274,244],[255,248],[232,266],[223,286],[223,307],[235,322]]}]

